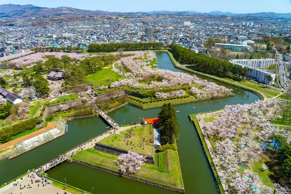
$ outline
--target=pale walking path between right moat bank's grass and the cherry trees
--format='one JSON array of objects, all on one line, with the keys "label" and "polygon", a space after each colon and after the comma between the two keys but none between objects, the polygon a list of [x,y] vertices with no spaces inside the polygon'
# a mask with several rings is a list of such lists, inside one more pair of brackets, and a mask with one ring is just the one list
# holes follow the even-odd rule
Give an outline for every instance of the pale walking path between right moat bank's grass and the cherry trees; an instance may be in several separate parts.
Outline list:
[{"label": "pale walking path between right moat bank's grass and the cherry trees", "polygon": [[[222,111],[216,111],[216,112],[211,112],[211,113],[206,113],[206,114],[196,114],[195,116],[196,116],[196,119],[197,119],[197,121],[198,121],[198,124],[199,124],[199,126],[200,126],[200,129],[201,129],[201,131],[202,131],[202,134],[203,134],[203,137],[205,137],[205,135],[206,135],[206,133],[205,133],[205,131],[204,131],[204,127],[205,127],[205,120],[204,120],[204,118],[205,117],[208,117],[208,116],[214,116],[214,115],[217,115],[218,113],[221,113]],[[206,142],[206,144],[207,144],[207,147],[208,147],[208,149],[209,149],[209,151],[210,151],[210,156],[211,156],[211,158],[212,158],[212,161],[213,161],[213,163],[215,164],[215,168],[216,168],[216,170],[217,170],[217,174],[218,174],[218,176],[219,177],[222,177],[223,176],[223,174],[221,173],[221,168],[220,168],[220,166],[219,166],[219,162],[218,162],[218,160],[216,159],[216,157],[215,157],[215,155],[213,154],[213,149],[212,149],[212,146],[211,146],[211,143],[210,143],[210,141],[209,141],[209,139],[208,138],[204,138],[205,139],[205,142]],[[225,193],[226,193],[226,190],[227,190],[227,186],[226,186],[226,184],[224,183],[224,182],[221,182],[222,183],[222,186],[223,186],[223,189],[224,189],[224,191],[225,191]]]}]

